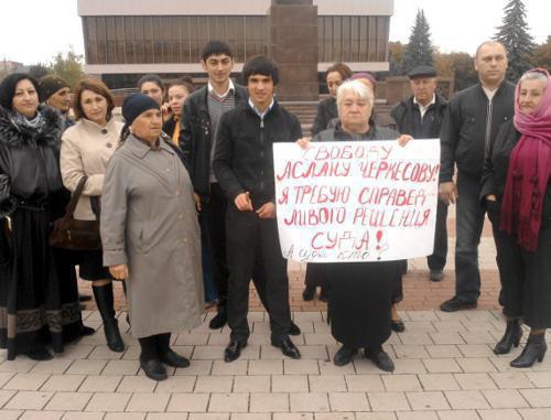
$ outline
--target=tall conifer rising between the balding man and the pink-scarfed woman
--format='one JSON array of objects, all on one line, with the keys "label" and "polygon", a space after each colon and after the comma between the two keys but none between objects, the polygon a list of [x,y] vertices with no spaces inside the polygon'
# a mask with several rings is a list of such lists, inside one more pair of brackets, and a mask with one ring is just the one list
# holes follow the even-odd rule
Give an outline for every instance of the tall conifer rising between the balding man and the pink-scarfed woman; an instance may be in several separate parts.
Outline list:
[{"label": "tall conifer rising between the balding man and the pink-scarfed woman", "polygon": [[494,39],[505,45],[509,58],[507,78],[516,83],[522,73],[531,68],[533,39],[528,32],[522,0],[508,0],[504,12],[503,25],[497,28]]}]

